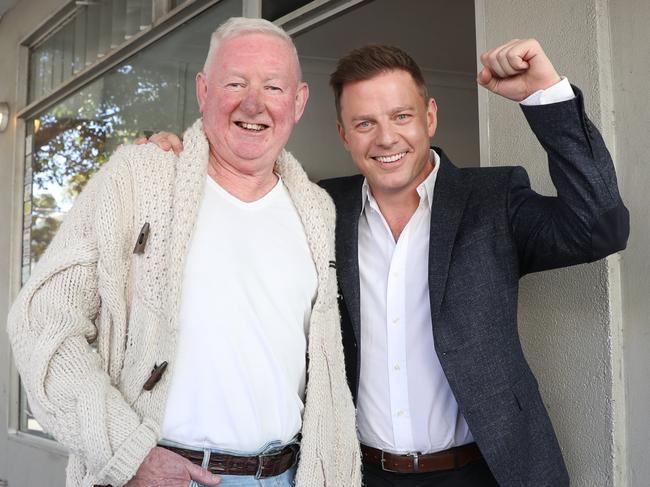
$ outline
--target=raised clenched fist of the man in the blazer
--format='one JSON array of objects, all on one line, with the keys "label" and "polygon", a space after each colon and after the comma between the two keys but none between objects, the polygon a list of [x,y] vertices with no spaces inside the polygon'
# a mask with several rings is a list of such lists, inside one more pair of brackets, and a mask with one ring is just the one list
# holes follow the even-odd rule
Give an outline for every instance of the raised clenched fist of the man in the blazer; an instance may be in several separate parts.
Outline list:
[{"label": "raised clenched fist of the man in the blazer", "polygon": [[477,81],[505,98],[522,101],[561,80],[535,39],[513,39],[481,54]]}]

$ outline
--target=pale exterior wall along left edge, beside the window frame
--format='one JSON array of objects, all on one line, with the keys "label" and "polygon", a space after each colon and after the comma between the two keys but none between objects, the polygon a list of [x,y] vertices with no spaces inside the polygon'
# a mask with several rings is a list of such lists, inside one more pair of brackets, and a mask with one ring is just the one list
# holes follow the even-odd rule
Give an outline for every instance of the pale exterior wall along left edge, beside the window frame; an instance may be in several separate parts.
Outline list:
[{"label": "pale exterior wall along left edge, beside the window frame", "polygon": [[[22,167],[17,167],[16,119],[18,93],[18,45],[41,22],[56,12],[66,0],[19,1],[0,19],[0,100],[9,102],[12,120],[0,134],[0,479],[10,487],[36,485],[63,486],[67,455],[60,447],[42,448],[43,441],[8,433],[9,408],[15,404],[10,391],[11,382],[9,343],[6,334],[6,316],[18,281],[20,225],[22,212]],[[12,233],[13,232],[13,233]],[[17,240],[18,239],[18,240]],[[12,253],[13,252],[13,253]],[[16,425],[12,424],[12,427]],[[51,442],[48,442],[51,443]]]}]

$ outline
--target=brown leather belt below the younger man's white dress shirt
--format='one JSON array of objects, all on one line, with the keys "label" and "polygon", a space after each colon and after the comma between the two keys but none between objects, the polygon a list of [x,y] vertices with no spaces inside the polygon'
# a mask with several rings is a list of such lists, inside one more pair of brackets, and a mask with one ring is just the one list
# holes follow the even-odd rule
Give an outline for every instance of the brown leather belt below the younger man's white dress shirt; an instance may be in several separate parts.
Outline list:
[{"label": "brown leather belt below the younger man's white dress shirt", "polygon": [[374,465],[387,472],[426,473],[452,470],[483,458],[476,443],[469,443],[436,453],[398,454],[361,445],[363,463]]}]

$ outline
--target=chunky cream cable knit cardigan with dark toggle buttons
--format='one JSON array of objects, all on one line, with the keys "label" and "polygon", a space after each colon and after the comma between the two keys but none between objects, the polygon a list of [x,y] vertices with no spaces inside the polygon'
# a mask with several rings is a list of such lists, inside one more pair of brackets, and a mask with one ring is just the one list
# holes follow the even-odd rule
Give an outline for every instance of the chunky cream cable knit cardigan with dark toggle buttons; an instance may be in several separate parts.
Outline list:
[{"label": "chunky cream cable knit cardigan with dark toggle buttons", "polygon": [[[79,196],[11,309],[9,337],[33,413],[71,452],[68,486],[125,484],[160,439],[184,260],[207,173],[201,120],[184,144],[179,157],[153,144],[118,149]],[[334,206],[288,152],[276,170],[318,272],[296,485],[360,486],[330,266]],[[134,254],[145,222],[145,252]],[[162,380],[144,391],[163,361],[169,367]]]}]

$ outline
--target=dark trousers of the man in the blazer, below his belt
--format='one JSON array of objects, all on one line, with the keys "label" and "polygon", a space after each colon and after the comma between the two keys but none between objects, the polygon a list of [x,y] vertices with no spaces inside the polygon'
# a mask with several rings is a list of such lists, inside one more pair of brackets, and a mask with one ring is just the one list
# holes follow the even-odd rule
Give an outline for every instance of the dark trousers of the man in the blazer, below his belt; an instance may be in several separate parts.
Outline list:
[{"label": "dark trousers of the man in the blazer, below his belt", "polygon": [[454,470],[430,473],[393,473],[363,465],[364,487],[499,487],[485,460]]}]

